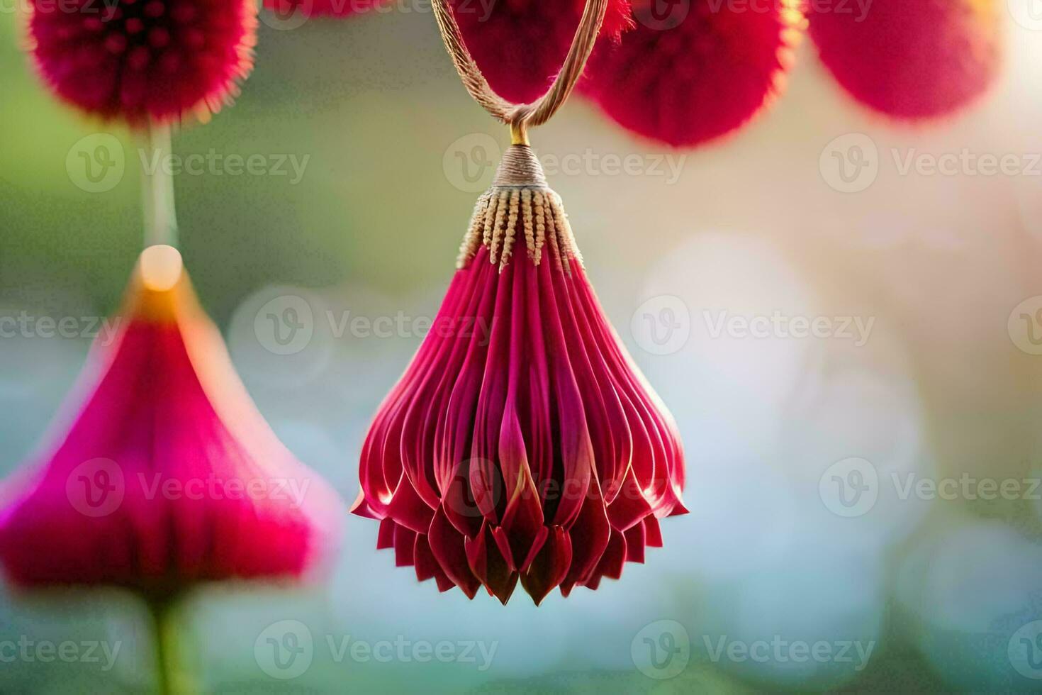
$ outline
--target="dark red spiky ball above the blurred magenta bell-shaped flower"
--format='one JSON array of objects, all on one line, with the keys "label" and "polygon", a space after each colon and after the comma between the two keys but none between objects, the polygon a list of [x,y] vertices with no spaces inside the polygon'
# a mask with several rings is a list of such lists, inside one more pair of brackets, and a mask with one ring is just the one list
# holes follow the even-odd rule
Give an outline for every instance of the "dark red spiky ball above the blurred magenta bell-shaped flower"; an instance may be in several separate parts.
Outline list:
[{"label": "dark red spiky ball above the blurred magenta bell-shaped flower", "polygon": [[105,120],[206,120],[253,66],[250,0],[32,0],[36,68],[63,101]]}]

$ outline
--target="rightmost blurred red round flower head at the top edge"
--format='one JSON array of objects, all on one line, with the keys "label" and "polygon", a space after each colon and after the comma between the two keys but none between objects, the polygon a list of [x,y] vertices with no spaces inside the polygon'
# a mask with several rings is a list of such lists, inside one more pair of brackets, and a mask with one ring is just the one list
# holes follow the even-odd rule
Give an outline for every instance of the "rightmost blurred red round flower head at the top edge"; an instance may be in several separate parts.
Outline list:
[{"label": "rightmost blurred red round flower head at the top edge", "polygon": [[999,66],[995,0],[873,0],[808,6],[821,61],[854,99],[903,120],[944,116],[979,97]]}]

